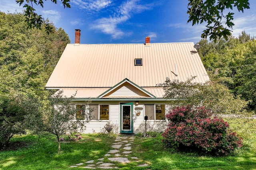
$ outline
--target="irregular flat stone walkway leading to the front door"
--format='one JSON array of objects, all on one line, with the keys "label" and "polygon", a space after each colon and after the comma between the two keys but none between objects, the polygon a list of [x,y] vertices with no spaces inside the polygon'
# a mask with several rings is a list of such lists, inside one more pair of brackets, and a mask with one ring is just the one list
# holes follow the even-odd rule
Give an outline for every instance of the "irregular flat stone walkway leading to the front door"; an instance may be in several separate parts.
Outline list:
[{"label": "irregular flat stone walkway leading to the front door", "polygon": [[[69,168],[87,168],[87,169],[118,169],[116,167],[116,162],[119,163],[130,163],[130,162],[139,162],[137,157],[130,157],[131,159],[128,159],[129,154],[132,153],[131,145],[134,141],[135,137],[117,137],[115,140],[115,143],[112,145],[112,150],[110,150],[108,153],[106,153],[105,160],[108,162],[104,162],[104,158],[100,158],[97,161],[89,160],[85,163],[79,163],[76,165],[69,166]],[[122,152],[120,151],[122,150]],[[112,162],[112,163],[109,163]],[[139,164],[138,167],[141,166],[148,166],[148,164]]]}]

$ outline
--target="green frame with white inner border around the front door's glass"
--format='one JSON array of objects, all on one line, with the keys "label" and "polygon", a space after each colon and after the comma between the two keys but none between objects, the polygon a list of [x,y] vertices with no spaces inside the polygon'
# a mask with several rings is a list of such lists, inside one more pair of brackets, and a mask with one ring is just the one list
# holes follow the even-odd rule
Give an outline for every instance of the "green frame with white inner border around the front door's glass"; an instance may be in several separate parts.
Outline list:
[{"label": "green frame with white inner border around the front door's glass", "polygon": [[[133,102],[120,103],[120,133],[133,133]],[[131,106],[130,111],[130,130],[123,130],[123,106]]]}]

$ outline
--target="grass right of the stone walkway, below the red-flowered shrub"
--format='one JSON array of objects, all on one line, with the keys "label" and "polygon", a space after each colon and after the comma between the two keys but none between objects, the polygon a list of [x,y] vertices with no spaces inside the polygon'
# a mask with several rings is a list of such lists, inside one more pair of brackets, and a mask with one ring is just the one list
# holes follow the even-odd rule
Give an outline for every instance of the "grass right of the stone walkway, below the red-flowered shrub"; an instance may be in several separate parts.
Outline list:
[{"label": "grass right of the stone walkway, below the red-flowered shrub", "polygon": [[[199,156],[164,149],[162,137],[136,138],[133,156],[148,162],[152,170],[202,169],[202,170],[256,170],[256,140],[252,147],[245,147],[235,156]],[[252,150],[251,150],[252,149]]]}]

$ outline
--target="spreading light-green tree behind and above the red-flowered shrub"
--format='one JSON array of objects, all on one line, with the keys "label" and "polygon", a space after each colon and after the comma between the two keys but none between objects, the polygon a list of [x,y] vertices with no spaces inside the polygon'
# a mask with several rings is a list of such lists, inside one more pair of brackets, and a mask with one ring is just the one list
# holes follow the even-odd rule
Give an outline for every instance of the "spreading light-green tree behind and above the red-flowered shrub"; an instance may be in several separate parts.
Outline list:
[{"label": "spreading light-green tree behind and above the red-flowered shrub", "polygon": [[171,101],[173,106],[205,106],[214,115],[248,116],[245,110],[248,102],[239,97],[234,98],[226,86],[216,81],[196,83],[193,79],[191,77],[185,82],[179,82],[166,78],[158,86],[164,87],[164,98],[176,99]]}]

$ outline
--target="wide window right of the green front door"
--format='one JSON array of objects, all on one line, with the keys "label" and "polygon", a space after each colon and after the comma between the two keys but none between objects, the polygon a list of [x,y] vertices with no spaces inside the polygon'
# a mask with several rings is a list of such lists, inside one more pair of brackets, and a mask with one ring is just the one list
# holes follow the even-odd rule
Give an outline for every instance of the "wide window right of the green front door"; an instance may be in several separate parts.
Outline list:
[{"label": "wide window right of the green front door", "polygon": [[165,104],[145,104],[148,120],[165,120]]}]

